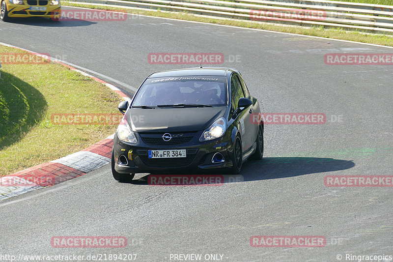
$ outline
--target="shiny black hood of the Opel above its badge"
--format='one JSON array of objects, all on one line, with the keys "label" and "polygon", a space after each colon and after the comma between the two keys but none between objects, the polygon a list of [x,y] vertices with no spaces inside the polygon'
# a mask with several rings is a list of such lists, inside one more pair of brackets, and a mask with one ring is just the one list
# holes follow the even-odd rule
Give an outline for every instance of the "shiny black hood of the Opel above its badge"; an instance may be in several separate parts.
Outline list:
[{"label": "shiny black hood of the Opel above its badge", "polygon": [[203,108],[131,108],[127,122],[136,132],[188,132],[208,128],[224,116],[226,106]]}]

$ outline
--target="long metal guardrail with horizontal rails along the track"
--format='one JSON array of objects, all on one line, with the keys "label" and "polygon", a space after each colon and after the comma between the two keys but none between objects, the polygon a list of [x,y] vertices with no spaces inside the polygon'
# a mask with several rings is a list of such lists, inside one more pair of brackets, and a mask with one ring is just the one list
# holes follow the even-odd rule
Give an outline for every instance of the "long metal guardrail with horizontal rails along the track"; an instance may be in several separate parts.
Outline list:
[{"label": "long metal guardrail with horizontal rails along the track", "polygon": [[73,3],[193,13],[286,25],[393,34],[393,6],[327,0],[74,0]]}]

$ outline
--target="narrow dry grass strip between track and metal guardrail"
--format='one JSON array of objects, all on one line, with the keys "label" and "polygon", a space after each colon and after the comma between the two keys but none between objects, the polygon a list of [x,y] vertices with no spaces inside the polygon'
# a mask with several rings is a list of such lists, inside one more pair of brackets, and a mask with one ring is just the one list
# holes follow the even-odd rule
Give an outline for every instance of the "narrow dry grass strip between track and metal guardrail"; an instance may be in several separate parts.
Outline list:
[{"label": "narrow dry grass strip between track and metal guardrail", "polygon": [[75,4],[69,3],[66,1],[62,2],[63,5],[69,6],[79,6],[86,7],[92,9],[99,10],[113,10],[113,11],[127,11],[130,14],[140,14],[140,15],[148,15],[155,17],[165,17],[165,18],[173,18],[187,21],[197,21],[218,25],[228,25],[228,26],[236,26],[243,28],[254,28],[254,29],[264,29],[270,31],[278,31],[278,32],[287,32],[287,33],[295,33],[295,34],[303,34],[309,36],[318,36],[324,38],[333,38],[333,39],[341,39],[341,40],[349,40],[361,43],[369,43],[369,44],[377,44],[377,45],[385,45],[385,46],[393,46],[393,37],[390,35],[384,34],[365,34],[361,31],[347,31],[344,29],[324,29],[323,27],[314,27],[314,28],[302,28],[302,27],[289,27],[289,26],[278,26],[275,24],[269,23],[257,23],[257,22],[249,22],[249,21],[237,21],[237,20],[229,20],[229,19],[214,19],[214,18],[205,18],[195,16],[189,13],[180,13],[180,12],[163,12],[163,11],[149,11],[149,10],[140,10],[140,9],[122,9],[121,7],[115,8],[110,6],[96,6],[89,4]]}]

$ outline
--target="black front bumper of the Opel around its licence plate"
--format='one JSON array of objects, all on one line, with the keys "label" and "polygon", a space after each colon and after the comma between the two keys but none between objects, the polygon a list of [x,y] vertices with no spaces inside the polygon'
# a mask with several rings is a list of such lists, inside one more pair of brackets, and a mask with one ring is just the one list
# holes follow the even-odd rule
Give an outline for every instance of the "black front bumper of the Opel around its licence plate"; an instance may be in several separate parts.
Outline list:
[{"label": "black front bumper of the Opel around its licence plate", "polygon": [[[137,134],[138,143],[132,145],[121,141],[115,133],[113,139],[114,169],[122,174],[154,174],[231,167],[233,143],[230,135],[224,135],[212,141],[199,142],[201,134],[202,131],[197,132],[187,143],[166,146],[147,144],[139,134]],[[186,149],[187,157],[149,159],[147,151],[157,149]],[[130,150],[132,150],[131,155]],[[217,152],[224,156],[225,162],[215,164],[211,162],[213,155]]]}]

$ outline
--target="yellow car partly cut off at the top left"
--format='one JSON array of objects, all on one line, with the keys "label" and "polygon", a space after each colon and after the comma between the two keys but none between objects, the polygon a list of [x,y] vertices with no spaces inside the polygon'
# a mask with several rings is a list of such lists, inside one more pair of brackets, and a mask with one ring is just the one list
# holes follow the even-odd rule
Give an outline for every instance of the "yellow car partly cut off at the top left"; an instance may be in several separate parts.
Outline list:
[{"label": "yellow car partly cut off at the top left", "polygon": [[59,0],[0,0],[0,19],[8,21],[10,17],[48,17],[57,21],[60,17]]}]

